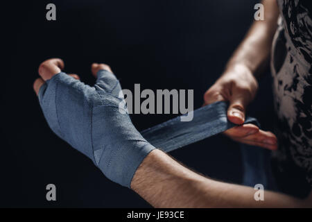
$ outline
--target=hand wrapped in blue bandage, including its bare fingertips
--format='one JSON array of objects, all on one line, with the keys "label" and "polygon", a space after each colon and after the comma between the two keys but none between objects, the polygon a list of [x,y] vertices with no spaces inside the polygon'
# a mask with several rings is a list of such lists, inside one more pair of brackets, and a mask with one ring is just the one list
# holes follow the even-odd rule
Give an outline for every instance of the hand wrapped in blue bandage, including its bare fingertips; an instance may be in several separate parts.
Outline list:
[{"label": "hand wrapped in blue bandage, including its bare fingertips", "polygon": [[87,155],[107,178],[130,187],[137,167],[155,147],[119,106],[123,101],[119,80],[110,67],[94,63],[96,83],[91,87],[63,68],[64,62],[57,58],[42,62],[41,78],[33,84],[51,130]]}]

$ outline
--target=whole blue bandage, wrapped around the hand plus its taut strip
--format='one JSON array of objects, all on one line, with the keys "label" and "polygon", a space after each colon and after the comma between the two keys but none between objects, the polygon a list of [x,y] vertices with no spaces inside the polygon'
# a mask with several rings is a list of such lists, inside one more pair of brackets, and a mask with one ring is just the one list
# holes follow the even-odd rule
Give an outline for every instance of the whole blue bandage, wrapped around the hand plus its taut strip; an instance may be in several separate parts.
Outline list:
[{"label": "whole blue bandage, wrapped around the hand plus its taut strip", "polygon": [[[125,187],[155,147],[173,151],[235,126],[227,121],[227,103],[218,102],[193,111],[192,121],[177,117],[139,133],[129,115],[119,112],[120,91],[116,76],[106,70],[98,71],[94,87],[60,72],[38,96],[53,132]],[[257,124],[250,117],[245,121],[251,122]]]}]

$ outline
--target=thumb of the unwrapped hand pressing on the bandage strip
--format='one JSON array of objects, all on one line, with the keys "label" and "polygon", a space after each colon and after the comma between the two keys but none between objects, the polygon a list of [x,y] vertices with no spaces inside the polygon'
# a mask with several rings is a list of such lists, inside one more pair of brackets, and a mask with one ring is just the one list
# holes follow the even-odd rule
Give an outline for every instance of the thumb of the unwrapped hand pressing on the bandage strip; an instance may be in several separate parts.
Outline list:
[{"label": "thumb of the unwrapped hand pressing on the bandage strip", "polygon": [[235,124],[243,124],[245,121],[245,111],[250,102],[250,94],[244,92],[236,92],[232,94],[229,100],[229,108],[227,109],[227,118]]}]

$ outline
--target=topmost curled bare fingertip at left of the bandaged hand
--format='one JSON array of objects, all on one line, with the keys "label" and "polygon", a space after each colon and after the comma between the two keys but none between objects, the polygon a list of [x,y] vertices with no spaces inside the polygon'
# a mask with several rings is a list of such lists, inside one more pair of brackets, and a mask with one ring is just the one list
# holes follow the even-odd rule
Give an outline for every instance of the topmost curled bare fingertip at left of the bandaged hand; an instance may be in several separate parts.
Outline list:
[{"label": "topmost curled bare fingertip at left of the bandaged hand", "polygon": [[52,78],[55,74],[60,73],[61,69],[64,69],[63,60],[60,58],[51,58],[40,64],[38,73],[41,78],[46,81]]}]

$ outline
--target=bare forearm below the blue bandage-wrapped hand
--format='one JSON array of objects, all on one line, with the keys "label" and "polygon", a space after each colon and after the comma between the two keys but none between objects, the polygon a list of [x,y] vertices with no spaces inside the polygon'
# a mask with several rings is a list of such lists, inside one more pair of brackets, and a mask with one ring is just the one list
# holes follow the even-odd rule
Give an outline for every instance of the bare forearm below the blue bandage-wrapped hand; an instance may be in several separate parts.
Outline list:
[{"label": "bare forearm below the blue bandage-wrapped hand", "polygon": [[183,167],[162,151],[141,163],[131,188],[154,207],[301,207],[302,200],[265,191],[254,200],[251,187],[218,182]]}]

